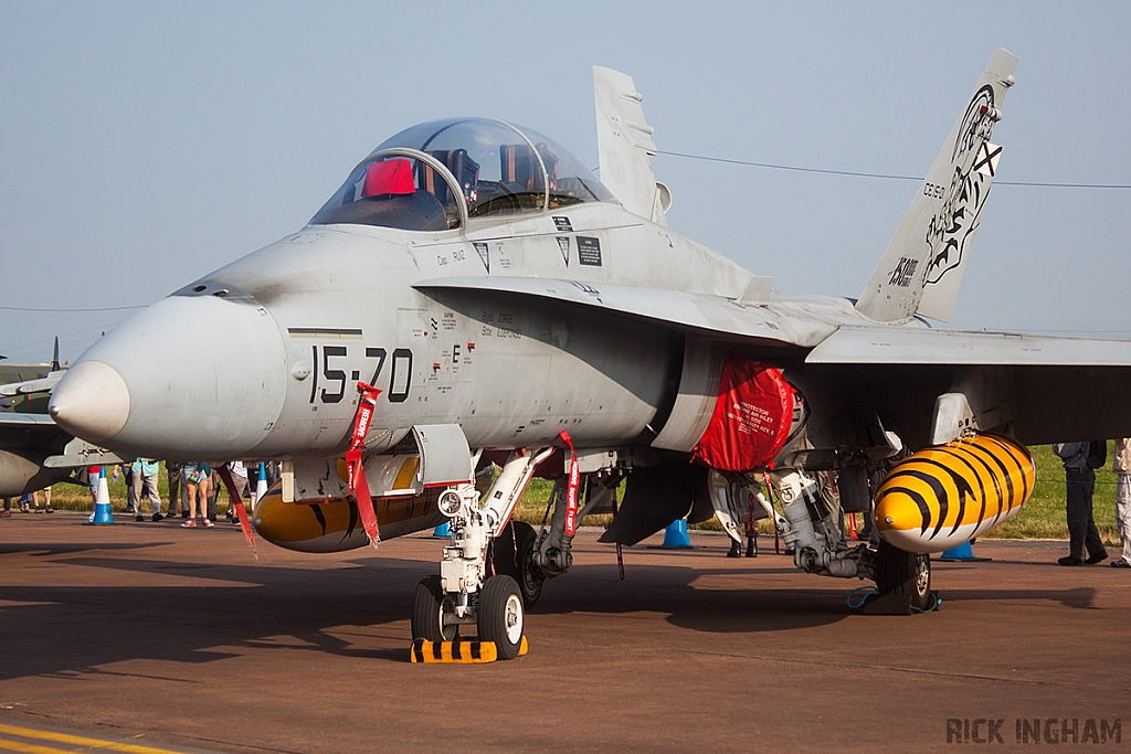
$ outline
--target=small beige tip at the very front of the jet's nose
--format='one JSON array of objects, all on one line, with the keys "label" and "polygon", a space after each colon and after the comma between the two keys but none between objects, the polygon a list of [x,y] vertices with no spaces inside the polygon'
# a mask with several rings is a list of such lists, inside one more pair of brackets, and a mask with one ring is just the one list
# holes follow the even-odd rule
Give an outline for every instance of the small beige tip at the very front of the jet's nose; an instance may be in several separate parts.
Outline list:
[{"label": "small beige tip at the very front of the jet's nose", "polygon": [[121,432],[130,417],[130,391],[113,366],[79,362],[52,392],[48,413],[75,436],[105,442]]}]

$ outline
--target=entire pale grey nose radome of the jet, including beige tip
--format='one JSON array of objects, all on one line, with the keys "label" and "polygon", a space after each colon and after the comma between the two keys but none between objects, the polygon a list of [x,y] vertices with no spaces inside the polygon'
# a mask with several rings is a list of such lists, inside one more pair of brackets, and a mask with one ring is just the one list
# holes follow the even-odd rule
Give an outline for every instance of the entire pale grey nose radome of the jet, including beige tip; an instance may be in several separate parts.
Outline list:
[{"label": "entire pale grey nose radome of the jet, including beige tip", "polygon": [[175,295],[92,346],[55,387],[68,432],[122,454],[250,454],[283,408],[286,355],[254,300]]}]

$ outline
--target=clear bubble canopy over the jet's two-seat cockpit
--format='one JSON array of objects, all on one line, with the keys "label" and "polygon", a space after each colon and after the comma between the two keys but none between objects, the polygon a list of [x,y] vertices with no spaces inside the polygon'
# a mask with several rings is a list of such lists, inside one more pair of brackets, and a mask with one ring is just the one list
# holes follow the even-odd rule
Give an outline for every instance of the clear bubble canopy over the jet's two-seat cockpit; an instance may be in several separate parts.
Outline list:
[{"label": "clear bubble canopy over the jet's two-seat cockpit", "polygon": [[581,161],[541,133],[460,118],[421,123],[385,141],[311,224],[444,231],[467,218],[612,198]]}]

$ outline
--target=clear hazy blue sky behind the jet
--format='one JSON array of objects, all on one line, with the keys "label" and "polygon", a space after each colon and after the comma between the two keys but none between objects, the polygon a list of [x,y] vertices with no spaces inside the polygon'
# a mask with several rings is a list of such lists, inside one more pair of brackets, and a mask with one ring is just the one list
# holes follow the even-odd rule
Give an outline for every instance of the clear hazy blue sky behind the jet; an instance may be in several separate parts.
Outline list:
[{"label": "clear hazy blue sky behind the jet", "polygon": [[[923,175],[994,47],[1020,58],[999,181],[1131,183],[1124,3],[0,0],[0,305],[149,304],[302,227],[377,144],[489,115],[596,165],[590,67],[661,149]],[[916,191],[657,156],[673,228],[856,296]],[[1131,337],[1131,191],[996,185],[951,327]],[[130,312],[0,310],[74,361]],[[199,333],[206,337],[207,333]],[[180,344],[153,344],[153,356]]]}]

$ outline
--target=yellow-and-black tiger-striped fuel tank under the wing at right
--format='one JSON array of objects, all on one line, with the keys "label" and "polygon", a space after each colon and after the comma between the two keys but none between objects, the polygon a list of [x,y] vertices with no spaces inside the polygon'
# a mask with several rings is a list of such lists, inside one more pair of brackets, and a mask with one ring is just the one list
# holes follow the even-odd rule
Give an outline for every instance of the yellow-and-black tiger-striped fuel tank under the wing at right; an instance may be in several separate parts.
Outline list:
[{"label": "yellow-and-black tiger-striped fuel tank under the wing at right", "polygon": [[875,493],[875,523],[889,544],[941,553],[1008,520],[1029,500],[1036,467],[1025,445],[982,434],[921,450]]}]

